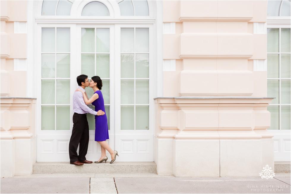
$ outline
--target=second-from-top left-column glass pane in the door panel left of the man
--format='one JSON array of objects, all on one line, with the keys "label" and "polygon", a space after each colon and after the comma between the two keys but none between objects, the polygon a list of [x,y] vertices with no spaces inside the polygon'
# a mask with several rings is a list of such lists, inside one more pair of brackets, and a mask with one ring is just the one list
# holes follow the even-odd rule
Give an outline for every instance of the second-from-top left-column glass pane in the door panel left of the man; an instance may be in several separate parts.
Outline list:
[{"label": "second-from-top left-column glass pane in the door panel left of the man", "polygon": [[55,77],[55,54],[42,54],[42,78]]}]

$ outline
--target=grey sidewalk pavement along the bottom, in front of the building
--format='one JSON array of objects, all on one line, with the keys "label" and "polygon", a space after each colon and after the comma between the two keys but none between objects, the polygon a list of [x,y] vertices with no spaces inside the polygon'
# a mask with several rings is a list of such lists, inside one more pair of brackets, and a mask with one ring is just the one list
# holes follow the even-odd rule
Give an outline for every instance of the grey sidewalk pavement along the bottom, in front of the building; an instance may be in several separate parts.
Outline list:
[{"label": "grey sidewalk pavement along the bottom, in front of the building", "polygon": [[32,174],[1,178],[0,193],[290,193],[290,173],[261,177],[174,177],[155,173]]}]

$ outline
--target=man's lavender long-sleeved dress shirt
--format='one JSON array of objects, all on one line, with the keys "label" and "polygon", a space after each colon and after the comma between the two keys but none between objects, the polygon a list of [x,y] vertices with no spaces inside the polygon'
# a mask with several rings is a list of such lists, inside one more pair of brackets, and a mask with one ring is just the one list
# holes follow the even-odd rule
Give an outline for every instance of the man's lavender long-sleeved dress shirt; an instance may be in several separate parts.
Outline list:
[{"label": "man's lavender long-sleeved dress shirt", "polygon": [[[85,90],[79,86],[78,88],[80,88],[81,90],[83,90],[85,92]],[[97,115],[96,111],[93,111],[91,108],[89,108],[83,99],[83,93],[80,91],[75,91],[73,94],[73,110],[74,113],[78,113],[78,114],[85,114],[85,113],[90,113],[90,114],[94,114]]]}]

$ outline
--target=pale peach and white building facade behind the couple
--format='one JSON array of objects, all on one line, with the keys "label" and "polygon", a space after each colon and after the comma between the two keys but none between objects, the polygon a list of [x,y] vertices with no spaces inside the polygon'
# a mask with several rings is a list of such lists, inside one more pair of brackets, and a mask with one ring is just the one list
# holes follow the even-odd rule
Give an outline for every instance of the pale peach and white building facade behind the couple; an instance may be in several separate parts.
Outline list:
[{"label": "pale peach and white building facade behind the couple", "polygon": [[119,162],[216,177],[290,161],[290,1],[1,1],[1,177],[69,161],[80,74],[102,79]]}]

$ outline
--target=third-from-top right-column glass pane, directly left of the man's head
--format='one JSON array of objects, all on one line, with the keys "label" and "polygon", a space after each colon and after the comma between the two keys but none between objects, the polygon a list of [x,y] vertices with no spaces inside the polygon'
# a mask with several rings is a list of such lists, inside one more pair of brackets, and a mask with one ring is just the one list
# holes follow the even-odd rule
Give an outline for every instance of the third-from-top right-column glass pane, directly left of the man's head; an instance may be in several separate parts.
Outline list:
[{"label": "third-from-top right-column glass pane, directly left of the man's head", "polygon": [[57,104],[70,104],[70,80],[57,80]]}]

